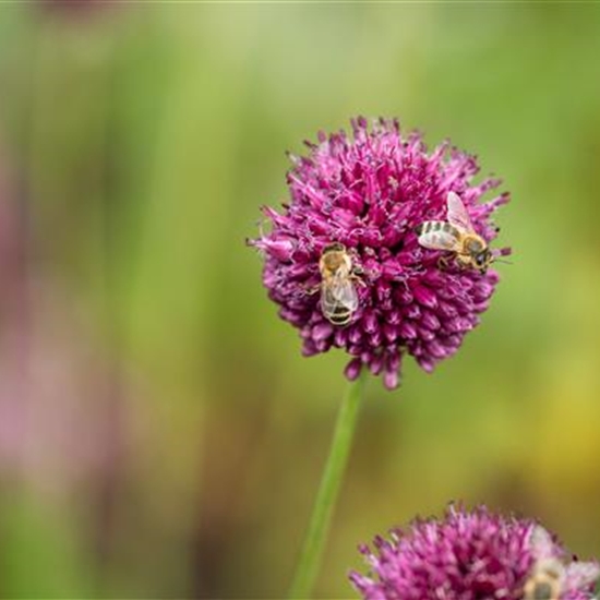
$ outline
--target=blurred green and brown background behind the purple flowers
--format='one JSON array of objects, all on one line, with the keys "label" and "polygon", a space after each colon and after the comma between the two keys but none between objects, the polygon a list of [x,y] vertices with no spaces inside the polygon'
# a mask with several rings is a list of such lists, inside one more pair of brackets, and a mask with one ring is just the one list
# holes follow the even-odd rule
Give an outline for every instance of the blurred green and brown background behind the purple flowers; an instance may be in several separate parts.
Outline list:
[{"label": "blurred green and brown background behind the purple flowers", "polygon": [[346,387],[244,248],[358,113],[503,177],[514,248],[433,375],[368,386],[320,598],[451,500],[600,554],[600,5],[0,7],[0,596],[279,598]]}]

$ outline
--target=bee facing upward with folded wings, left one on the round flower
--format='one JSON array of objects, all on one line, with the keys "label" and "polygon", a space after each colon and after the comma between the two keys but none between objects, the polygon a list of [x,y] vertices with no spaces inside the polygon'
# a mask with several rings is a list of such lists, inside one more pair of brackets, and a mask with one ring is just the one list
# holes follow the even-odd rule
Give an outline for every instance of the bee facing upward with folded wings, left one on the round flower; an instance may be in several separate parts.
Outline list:
[{"label": "bee facing upward with folded wings, left one on the round flower", "polygon": [[334,325],[346,325],[358,309],[353,280],[358,271],[344,244],[334,242],[323,249],[319,261],[321,272],[321,310]]}]

